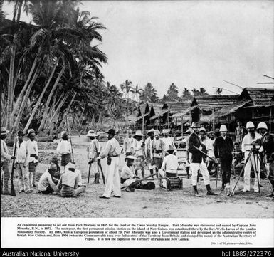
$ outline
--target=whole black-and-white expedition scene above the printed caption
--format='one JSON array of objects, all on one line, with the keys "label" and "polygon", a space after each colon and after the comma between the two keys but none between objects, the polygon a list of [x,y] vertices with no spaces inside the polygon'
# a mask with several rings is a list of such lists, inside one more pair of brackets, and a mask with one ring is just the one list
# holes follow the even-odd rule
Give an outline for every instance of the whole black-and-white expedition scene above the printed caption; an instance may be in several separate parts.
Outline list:
[{"label": "whole black-and-white expedition scene above the printed caption", "polygon": [[1,219],[268,219],[274,1],[1,0]]}]

